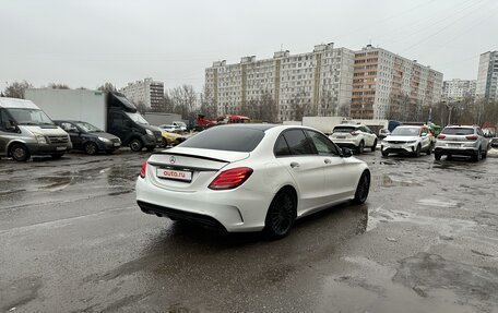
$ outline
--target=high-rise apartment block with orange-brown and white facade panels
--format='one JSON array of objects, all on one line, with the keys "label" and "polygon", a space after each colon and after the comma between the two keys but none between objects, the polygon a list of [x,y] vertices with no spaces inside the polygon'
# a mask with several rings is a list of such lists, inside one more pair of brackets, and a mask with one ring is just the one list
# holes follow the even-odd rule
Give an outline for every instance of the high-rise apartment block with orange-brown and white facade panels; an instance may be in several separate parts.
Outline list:
[{"label": "high-rise apartment block with orange-brown and white facade panels", "polygon": [[351,117],[411,119],[441,97],[442,73],[371,45],[355,52]]}]

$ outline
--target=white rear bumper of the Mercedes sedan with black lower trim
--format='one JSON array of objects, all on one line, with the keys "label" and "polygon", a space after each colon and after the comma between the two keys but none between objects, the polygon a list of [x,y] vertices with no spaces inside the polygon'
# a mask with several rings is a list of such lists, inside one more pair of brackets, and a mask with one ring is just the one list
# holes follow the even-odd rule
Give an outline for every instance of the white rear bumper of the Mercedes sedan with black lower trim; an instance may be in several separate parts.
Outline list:
[{"label": "white rear bumper of the Mercedes sedan with black lower trim", "polygon": [[226,191],[182,192],[137,180],[137,202],[145,213],[186,219],[229,232],[259,231],[264,227],[273,194],[241,188]]}]

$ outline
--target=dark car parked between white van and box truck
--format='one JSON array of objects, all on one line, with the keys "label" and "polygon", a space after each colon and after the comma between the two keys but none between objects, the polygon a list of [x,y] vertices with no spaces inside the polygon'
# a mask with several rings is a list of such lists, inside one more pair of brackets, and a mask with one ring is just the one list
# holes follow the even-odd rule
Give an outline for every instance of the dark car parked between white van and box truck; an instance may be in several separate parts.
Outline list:
[{"label": "dark car parked between white van and box truck", "polygon": [[91,123],[72,120],[54,122],[69,133],[73,149],[83,151],[88,155],[99,152],[110,154],[121,146],[121,140],[118,136],[106,133]]}]

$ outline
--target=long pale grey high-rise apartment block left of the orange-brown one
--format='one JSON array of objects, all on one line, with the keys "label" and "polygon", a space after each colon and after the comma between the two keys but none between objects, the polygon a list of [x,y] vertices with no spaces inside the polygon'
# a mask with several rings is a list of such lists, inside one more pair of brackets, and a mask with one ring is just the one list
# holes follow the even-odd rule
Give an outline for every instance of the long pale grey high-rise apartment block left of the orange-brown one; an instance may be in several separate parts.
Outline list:
[{"label": "long pale grey high-rise apartment block left of the orange-brown one", "polygon": [[257,103],[274,104],[277,121],[303,115],[336,116],[349,108],[354,57],[349,49],[327,44],[300,55],[287,50],[272,59],[217,61],[205,70],[206,93],[218,116],[240,113]]}]

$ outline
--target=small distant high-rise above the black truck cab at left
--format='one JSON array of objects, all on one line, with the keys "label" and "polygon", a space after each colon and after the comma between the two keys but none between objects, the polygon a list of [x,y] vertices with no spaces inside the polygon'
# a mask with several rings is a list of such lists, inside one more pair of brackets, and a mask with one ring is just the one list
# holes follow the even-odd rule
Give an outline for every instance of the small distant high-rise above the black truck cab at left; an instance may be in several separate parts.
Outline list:
[{"label": "small distant high-rise above the black truck cab at left", "polygon": [[161,107],[164,100],[164,83],[152,79],[128,83],[119,92],[135,105],[143,104],[150,109]]}]

